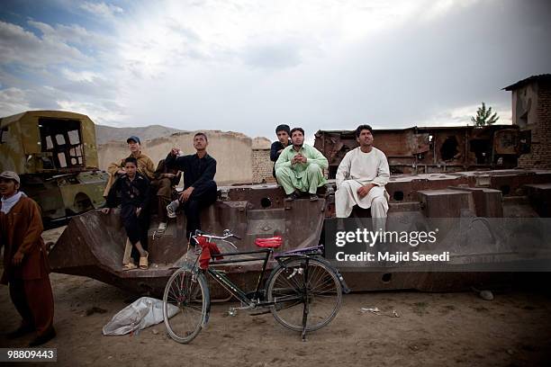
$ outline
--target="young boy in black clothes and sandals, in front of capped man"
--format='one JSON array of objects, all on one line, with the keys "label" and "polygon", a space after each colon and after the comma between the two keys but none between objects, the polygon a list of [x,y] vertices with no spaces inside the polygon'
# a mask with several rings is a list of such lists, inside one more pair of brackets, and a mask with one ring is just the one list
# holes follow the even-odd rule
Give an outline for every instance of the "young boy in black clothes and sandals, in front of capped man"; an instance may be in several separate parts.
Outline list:
[{"label": "young boy in black clothes and sandals, in front of capped man", "polygon": [[[107,195],[107,202],[102,210],[108,214],[111,208],[117,206],[117,196],[121,198],[121,219],[132,244],[132,258],[137,263],[140,261],[140,269],[148,268],[147,249],[149,216],[149,180],[138,171],[138,162],[134,157],[124,160],[126,173],[121,175],[113,184]],[[134,269],[136,265],[129,263],[124,265],[126,269]]]}]

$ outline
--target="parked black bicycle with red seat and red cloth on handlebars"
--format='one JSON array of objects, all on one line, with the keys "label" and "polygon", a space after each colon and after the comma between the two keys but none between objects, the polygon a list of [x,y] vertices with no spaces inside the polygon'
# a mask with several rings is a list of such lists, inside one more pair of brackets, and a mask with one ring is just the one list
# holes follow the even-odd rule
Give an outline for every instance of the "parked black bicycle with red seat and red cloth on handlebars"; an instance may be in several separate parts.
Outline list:
[{"label": "parked black bicycle with red seat and red cloth on handlebars", "polygon": [[[183,265],[183,269],[177,271],[177,273],[171,276],[169,282],[167,283],[167,287],[165,288],[165,295],[163,296],[163,301],[165,302],[163,316],[165,318],[165,323],[167,324],[169,335],[173,339],[180,343],[188,343],[197,335],[201,327],[204,327],[204,325],[206,325],[206,323],[208,322],[210,296],[208,290],[209,286],[205,279],[208,274],[210,274],[211,277],[216,282],[218,282],[222,288],[230,292],[231,296],[235,297],[241,302],[241,307],[230,308],[230,315],[235,315],[235,312],[238,309],[260,309],[260,312],[254,313],[254,315],[265,312],[272,312],[277,322],[279,322],[284,327],[290,328],[295,331],[302,331],[303,341],[305,340],[307,330],[314,331],[321,327],[324,327],[330,322],[332,318],[337,315],[341,303],[341,292],[343,290],[340,284],[342,284],[344,281],[335,268],[324,261],[322,257],[319,258],[319,256],[322,255],[322,245],[274,254],[273,246],[264,246],[265,244],[258,243],[257,241],[255,242],[257,242],[258,246],[264,248],[260,248],[254,251],[238,251],[234,253],[220,253],[220,250],[217,248],[217,246],[214,246],[214,244],[212,243],[212,239],[218,239],[230,244],[237,249],[237,247],[228,240],[228,238],[230,237],[236,237],[240,239],[236,235],[233,235],[229,229],[224,230],[224,235],[222,237],[205,234],[203,232],[200,232],[199,230],[195,232],[195,236],[192,236],[192,239],[197,244],[197,246],[201,247],[201,254],[199,255],[198,251],[195,251],[195,254],[198,256],[194,259],[193,264],[191,264],[191,262],[186,262]],[[277,246],[279,246],[279,244]],[[196,249],[199,250],[199,247],[196,247]],[[207,252],[205,253],[205,251]],[[190,247],[188,246],[188,253],[189,252]],[[248,256],[248,258],[234,258],[235,256],[239,255],[252,256]],[[230,257],[230,259],[226,259],[223,256]],[[276,260],[277,265],[272,270],[272,273],[270,274],[265,285],[266,268],[268,260],[270,258]],[[207,261],[208,264],[206,264]],[[215,268],[216,265],[247,263],[253,261],[262,261],[262,270],[258,275],[257,284],[254,288],[254,291],[242,290],[234,282],[231,282],[230,277],[226,274],[226,272],[223,271],[223,269]],[[317,266],[317,269],[321,269],[321,271],[314,271],[312,273],[310,270],[310,265],[312,263],[315,263],[316,265],[314,266]],[[191,289],[191,286],[185,285],[182,283],[183,281],[179,280],[184,278],[178,278],[178,276],[185,273],[191,273],[191,278],[188,277],[187,279],[190,279],[191,282],[198,282],[199,286],[201,287],[201,293],[189,293],[182,296],[182,291],[184,288]],[[321,276],[312,275],[311,273],[321,274]],[[315,281],[311,281],[311,277],[313,277],[312,279],[315,279]],[[339,280],[341,282],[340,284]],[[202,324],[191,324],[192,328],[188,332],[188,334],[181,334],[179,332],[176,333],[168,321],[167,303],[169,303],[169,292],[174,291],[172,287],[173,282],[175,281],[176,299],[175,296],[172,296],[172,299],[176,300],[177,307],[187,308],[192,307],[190,306],[191,303],[188,304],[189,302],[199,300],[202,302]],[[177,282],[180,282],[180,284],[178,284]],[[314,294],[318,294],[318,291],[320,291],[315,291],[317,289],[316,287],[319,288],[319,286],[316,285],[318,284],[317,282],[322,282],[323,287],[327,286],[326,284],[329,284],[330,287],[333,287],[332,289],[336,291],[336,293],[331,293],[335,294],[335,297],[330,296],[330,302],[333,302],[334,305],[332,306],[332,309],[330,309],[330,313],[321,318],[321,321],[319,321],[317,324],[311,324],[311,327],[309,327],[308,318],[311,309],[319,309],[317,307],[317,303],[315,301],[312,302],[312,300],[314,300],[314,297],[316,297],[314,296]],[[266,288],[266,291],[264,291],[264,289],[261,290],[261,287]],[[330,290],[330,288],[328,290]],[[197,294],[200,294],[201,299],[195,299]],[[333,298],[334,301],[332,300]],[[295,309],[295,306],[301,304],[303,305],[302,311],[300,311],[299,309]],[[287,316],[285,315],[286,309],[291,309],[292,313],[296,313],[297,310],[301,312],[302,323],[300,321],[297,323],[291,320],[291,318],[287,318]],[[185,318],[184,312],[182,313],[182,315]],[[199,314],[195,313],[194,315]]]}]

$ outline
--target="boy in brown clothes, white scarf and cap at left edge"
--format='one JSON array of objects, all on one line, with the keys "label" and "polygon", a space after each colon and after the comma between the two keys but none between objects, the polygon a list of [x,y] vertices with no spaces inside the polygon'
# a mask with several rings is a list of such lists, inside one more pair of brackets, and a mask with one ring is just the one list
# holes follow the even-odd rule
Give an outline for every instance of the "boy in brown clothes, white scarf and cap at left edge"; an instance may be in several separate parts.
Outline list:
[{"label": "boy in brown clothes, white scarf and cap at left edge", "polygon": [[54,301],[50,265],[42,240],[41,211],[36,202],[19,191],[17,174],[0,174],[0,248],[4,246],[4,273],[0,283],[9,284],[10,298],[23,318],[8,339],[36,331],[29,346],[43,345],[54,336]]}]

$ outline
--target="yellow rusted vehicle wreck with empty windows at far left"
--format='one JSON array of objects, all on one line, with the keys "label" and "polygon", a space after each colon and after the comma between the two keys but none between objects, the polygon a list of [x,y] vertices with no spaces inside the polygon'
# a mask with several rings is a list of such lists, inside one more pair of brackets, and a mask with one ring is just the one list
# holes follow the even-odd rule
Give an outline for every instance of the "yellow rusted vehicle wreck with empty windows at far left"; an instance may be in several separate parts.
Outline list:
[{"label": "yellow rusted vehicle wreck with empty windows at far left", "polygon": [[0,119],[0,171],[21,176],[47,226],[104,204],[95,125],[84,114],[28,111]]}]

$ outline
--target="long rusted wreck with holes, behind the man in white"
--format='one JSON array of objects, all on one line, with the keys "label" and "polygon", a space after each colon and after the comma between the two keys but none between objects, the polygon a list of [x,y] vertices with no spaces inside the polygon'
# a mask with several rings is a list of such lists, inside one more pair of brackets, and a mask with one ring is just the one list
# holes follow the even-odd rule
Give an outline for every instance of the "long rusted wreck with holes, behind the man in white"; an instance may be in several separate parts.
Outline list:
[{"label": "long rusted wreck with holes, behind the man in white", "polygon": [[[517,131],[510,125],[374,130],[374,147],[384,152],[393,174],[449,173],[495,166],[512,168],[527,145],[526,137],[522,146],[517,143],[520,139],[516,139],[511,153],[510,139],[518,135]],[[354,131],[320,130],[315,137],[314,147],[328,158],[329,176],[334,178],[342,158],[358,146]]]}]

